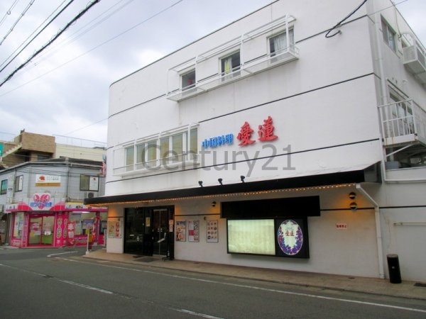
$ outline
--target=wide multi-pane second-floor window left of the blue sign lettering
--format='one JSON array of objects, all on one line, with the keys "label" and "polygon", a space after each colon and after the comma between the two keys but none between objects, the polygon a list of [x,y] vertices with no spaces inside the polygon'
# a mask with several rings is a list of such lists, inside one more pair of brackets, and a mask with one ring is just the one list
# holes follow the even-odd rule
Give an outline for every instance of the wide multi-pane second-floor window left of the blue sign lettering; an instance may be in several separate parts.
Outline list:
[{"label": "wide multi-pane second-floor window left of the blue sign lettering", "polygon": [[[153,140],[138,143],[125,148],[126,171],[134,169],[150,169],[164,166],[169,163],[185,162],[195,158],[197,154],[197,128],[174,133]],[[136,166],[134,152],[136,150]]]}]

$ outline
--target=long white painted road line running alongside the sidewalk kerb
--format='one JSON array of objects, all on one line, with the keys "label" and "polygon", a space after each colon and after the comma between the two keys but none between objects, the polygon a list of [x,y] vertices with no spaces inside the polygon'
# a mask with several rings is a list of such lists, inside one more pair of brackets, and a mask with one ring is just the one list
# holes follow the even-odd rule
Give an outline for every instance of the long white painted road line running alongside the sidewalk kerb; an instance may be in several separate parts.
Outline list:
[{"label": "long white painted road line running alongside the sidewalk kerb", "polygon": [[[58,258],[60,258],[60,257],[58,257]],[[67,259],[67,258],[60,258],[60,259],[64,259],[64,260],[72,261],[72,262],[82,262],[82,263],[92,264],[92,262],[84,262],[84,261],[80,261],[80,260],[77,261],[75,259]],[[376,307],[391,308],[391,309],[398,309],[398,310],[414,311],[414,312],[417,312],[417,313],[426,313],[426,310],[422,310],[422,309],[408,308],[408,307],[401,307],[401,306],[392,306],[392,305],[386,305],[385,303],[371,303],[371,302],[368,302],[368,301],[356,301],[356,300],[344,299],[344,298],[318,296],[318,295],[313,295],[311,293],[297,293],[297,292],[293,292],[293,291],[268,289],[268,288],[242,285],[242,284],[231,284],[231,283],[226,283],[226,282],[222,282],[222,281],[214,281],[214,280],[211,280],[211,279],[199,279],[199,278],[192,278],[192,277],[188,277],[188,276],[163,274],[163,273],[160,273],[160,272],[154,272],[152,270],[134,269],[134,268],[130,268],[130,267],[119,267],[119,266],[113,266],[113,265],[108,265],[108,264],[99,264],[99,266],[116,268],[116,269],[126,269],[126,270],[131,270],[133,272],[143,272],[143,273],[146,273],[146,274],[157,274],[157,275],[160,275],[160,276],[169,276],[169,277],[175,277],[175,278],[179,278],[179,279],[187,279],[187,280],[192,280],[192,281],[202,281],[202,282],[207,282],[207,283],[211,283],[211,284],[222,284],[222,285],[234,286],[234,287],[239,287],[239,288],[268,291],[268,292],[273,292],[273,293],[283,293],[283,294],[288,294],[288,295],[293,295],[293,296],[302,296],[302,297],[317,298],[317,299],[324,299],[324,300],[330,300],[330,301],[340,301],[340,302],[344,302],[344,303],[356,303],[356,304],[361,304],[361,305],[366,305],[366,306],[376,306]],[[171,269],[171,270],[173,270],[173,269]],[[174,270],[178,270],[178,269],[174,269]]]}]

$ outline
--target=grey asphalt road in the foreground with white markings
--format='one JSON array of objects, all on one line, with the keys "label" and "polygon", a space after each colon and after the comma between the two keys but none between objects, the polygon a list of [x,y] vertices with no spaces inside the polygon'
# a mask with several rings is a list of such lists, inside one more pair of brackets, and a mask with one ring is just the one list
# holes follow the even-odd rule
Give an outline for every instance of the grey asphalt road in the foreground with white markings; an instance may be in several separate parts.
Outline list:
[{"label": "grey asphalt road in the foreground with white markings", "polygon": [[424,301],[0,250],[0,318],[426,318]]}]

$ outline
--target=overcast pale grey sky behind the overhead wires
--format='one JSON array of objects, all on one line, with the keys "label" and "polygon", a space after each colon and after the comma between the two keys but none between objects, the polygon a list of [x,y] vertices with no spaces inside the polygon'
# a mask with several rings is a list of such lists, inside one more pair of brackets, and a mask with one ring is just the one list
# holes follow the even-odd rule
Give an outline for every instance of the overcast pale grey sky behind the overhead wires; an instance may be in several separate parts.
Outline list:
[{"label": "overcast pale grey sky behind the overhead wires", "polygon": [[[91,3],[73,1],[40,32],[68,2],[0,1],[0,83]],[[426,1],[394,2],[426,45]],[[100,1],[0,87],[0,140],[11,140],[25,129],[107,142],[112,82],[269,3],[271,0]],[[330,27],[337,22],[330,21]],[[40,36],[28,43],[37,33]]]}]

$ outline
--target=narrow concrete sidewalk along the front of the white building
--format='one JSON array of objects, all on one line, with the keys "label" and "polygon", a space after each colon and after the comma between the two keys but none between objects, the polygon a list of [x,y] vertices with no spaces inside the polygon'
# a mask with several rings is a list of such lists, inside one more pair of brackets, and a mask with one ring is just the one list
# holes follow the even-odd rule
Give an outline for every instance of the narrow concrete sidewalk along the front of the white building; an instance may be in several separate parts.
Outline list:
[{"label": "narrow concrete sidewalk along the front of the white building", "polygon": [[277,269],[212,264],[207,262],[190,262],[178,259],[163,260],[160,257],[135,257],[133,254],[107,253],[104,249],[89,252],[84,257],[109,260],[111,262],[138,264],[147,267],[159,267],[204,274],[218,274],[236,278],[257,279],[341,291],[373,293],[382,296],[414,298],[426,301],[426,283],[415,283],[414,281],[403,280],[401,284],[391,284],[389,279],[293,272]]}]

